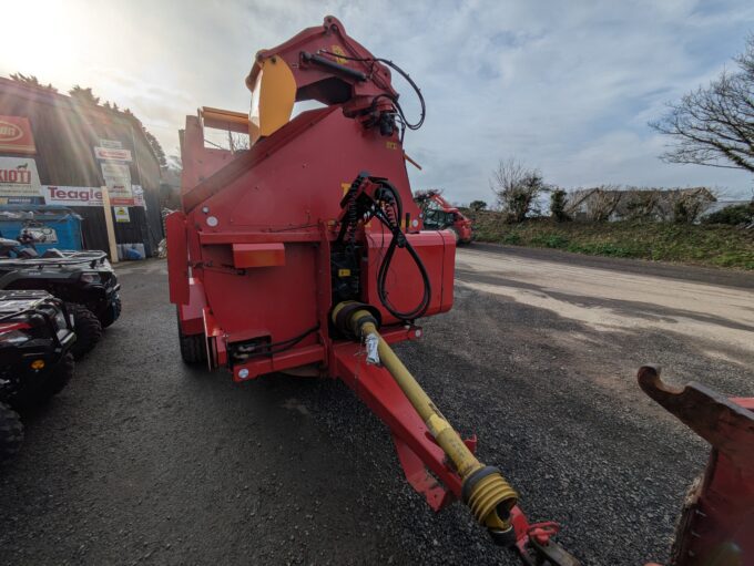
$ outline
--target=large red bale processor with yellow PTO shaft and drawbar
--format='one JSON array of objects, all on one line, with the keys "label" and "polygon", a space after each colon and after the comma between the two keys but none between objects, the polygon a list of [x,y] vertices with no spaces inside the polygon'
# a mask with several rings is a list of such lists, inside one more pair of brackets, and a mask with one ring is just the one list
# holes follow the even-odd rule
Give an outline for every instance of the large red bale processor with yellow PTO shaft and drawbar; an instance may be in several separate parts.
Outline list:
[{"label": "large red bale processor with yellow PTO shaft and drawbar", "polygon": [[[415,123],[394,71],[419,97]],[[524,564],[578,564],[552,541],[556,525],[527,521],[500,471],[476,457],[476,439],[458,435],[390,349],[420,338],[417,320],[454,298],[456,238],[422,229],[406,171],[419,89],[333,17],[259,51],[246,85],[248,115],[204,107],[181,135],[182,210],[166,230],[183,359],[236,381],[343,380],[389,428],[434,510],[461,500]],[[292,119],[303,101],[323,106]],[[251,148],[205,147],[205,128],[248,133]]]}]

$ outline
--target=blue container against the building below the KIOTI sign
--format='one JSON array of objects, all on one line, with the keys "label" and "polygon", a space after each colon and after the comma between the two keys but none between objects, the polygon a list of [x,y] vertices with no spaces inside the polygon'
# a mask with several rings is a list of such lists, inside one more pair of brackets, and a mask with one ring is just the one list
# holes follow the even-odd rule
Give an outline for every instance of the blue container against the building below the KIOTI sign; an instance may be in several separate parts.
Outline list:
[{"label": "blue container against the building below the KIOTI sign", "polygon": [[39,254],[50,248],[82,249],[81,216],[64,206],[0,206],[0,236],[18,239],[21,233],[33,237]]}]

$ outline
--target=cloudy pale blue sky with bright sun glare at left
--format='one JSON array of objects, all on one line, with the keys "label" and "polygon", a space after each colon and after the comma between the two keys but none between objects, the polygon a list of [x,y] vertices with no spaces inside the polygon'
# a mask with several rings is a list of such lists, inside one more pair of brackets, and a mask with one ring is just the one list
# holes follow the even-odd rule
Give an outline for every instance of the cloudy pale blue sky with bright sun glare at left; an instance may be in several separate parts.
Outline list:
[{"label": "cloudy pale blue sky with bright sun glare at left", "polygon": [[509,156],[564,187],[707,185],[733,198],[754,187],[743,172],[661,162],[665,140],[646,125],[732,66],[754,31],[751,0],[14,0],[2,13],[0,74],[92,86],[130,107],[167,154],[197,106],[248,110],[257,50],[332,13],[422,89],[427,121],[405,144],[424,166],[409,166],[415,189],[490,202],[491,171]]}]

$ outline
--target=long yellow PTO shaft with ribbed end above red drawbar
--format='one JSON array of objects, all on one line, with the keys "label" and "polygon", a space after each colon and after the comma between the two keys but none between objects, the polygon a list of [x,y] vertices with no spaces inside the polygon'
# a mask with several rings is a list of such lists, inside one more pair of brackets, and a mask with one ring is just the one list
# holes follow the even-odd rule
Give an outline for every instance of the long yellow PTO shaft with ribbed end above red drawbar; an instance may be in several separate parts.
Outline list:
[{"label": "long yellow PTO shaft with ribbed end above red drawbar", "polygon": [[[406,369],[406,366],[379,335],[375,316],[366,308],[356,309],[354,307],[355,305],[347,302],[342,302],[335,307],[333,321],[336,326],[345,326],[342,330],[364,340],[368,350],[374,349],[376,343],[378,357],[368,351],[368,359],[373,362],[380,362],[393,375],[393,379],[421,416],[437,444],[452,462],[461,477],[463,502],[471,508],[477,522],[490,529],[496,542],[502,543],[502,539],[506,539],[508,544],[514,542],[509,512],[518,501],[517,493],[496,467],[486,466],[471,453],[459,434],[411,375],[411,372]],[[338,317],[344,309],[348,311],[347,316]]]}]

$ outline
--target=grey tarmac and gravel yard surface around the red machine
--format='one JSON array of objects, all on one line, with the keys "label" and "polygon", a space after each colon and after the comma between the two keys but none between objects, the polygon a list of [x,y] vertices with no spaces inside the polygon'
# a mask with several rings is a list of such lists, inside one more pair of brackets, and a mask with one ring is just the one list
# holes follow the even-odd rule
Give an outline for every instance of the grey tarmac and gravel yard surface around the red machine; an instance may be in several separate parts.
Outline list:
[{"label": "grey tarmac and gravel yard surface around the red machine", "polygon": [[[482,245],[457,264],[409,369],[584,564],[665,558],[707,447],[635,370],[754,395],[754,277]],[[164,263],[120,277],[121,320],[0,469],[0,564],[517,564],[462,506],[428,510],[345,385],[188,369]]]}]

